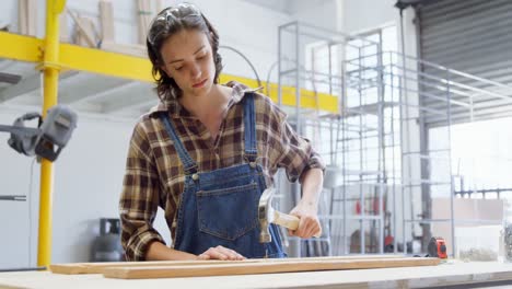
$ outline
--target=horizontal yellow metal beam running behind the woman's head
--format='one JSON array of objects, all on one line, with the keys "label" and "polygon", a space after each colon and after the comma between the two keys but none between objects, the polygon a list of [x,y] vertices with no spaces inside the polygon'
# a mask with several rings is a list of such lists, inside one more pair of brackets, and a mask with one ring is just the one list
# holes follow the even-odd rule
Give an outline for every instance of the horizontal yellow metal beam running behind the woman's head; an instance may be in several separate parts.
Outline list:
[{"label": "horizontal yellow metal beam running behind the woman's head", "polygon": [[[44,41],[0,32],[0,57],[11,58],[22,61],[42,61],[40,47]],[[109,77],[132,79],[144,82],[153,82],[151,76],[151,62],[148,59],[128,55],[115,54],[100,49],[85,48],[71,44],[60,44],[59,61],[56,63],[62,69],[72,69]],[[51,65],[47,62],[47,65]],[[252,88],[257,88],[258,83],[254,79],[236,77],[232,74],[221,74],[221,83],[229,80],[236,80]],[[263,82],[264,88],[267,83]],[[264,91],[275,102],[278,101],[277,83],[268,85],[269,91]],[[283,105],[295,105],[295,88],[282,86],[281,100]],[[301,106],[303,108],[319,109],[329,113],[338,113],[338,97],[327,93],[317,93],[301,89]]]}]

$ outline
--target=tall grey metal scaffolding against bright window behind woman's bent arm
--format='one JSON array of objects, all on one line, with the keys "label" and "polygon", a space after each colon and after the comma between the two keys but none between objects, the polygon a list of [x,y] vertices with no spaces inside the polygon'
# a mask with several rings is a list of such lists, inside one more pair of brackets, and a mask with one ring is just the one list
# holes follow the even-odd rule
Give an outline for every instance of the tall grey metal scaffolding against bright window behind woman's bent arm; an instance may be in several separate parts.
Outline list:
[{"label": "tall grey metal scaffolding against bright window behind woman's bent arm", "polygon": [[[353,66],[344,61],[349,49],[356,49],[359,59]],[[316,142],[328,164],[319,206],[324,234],[303,242],[306,255],[384,252],[385,230],[392,228],[384,211],[389,194],[385,146],[391,147],[384,138],[393,136],[383,120],[391,103],[383,99],[380,70],[373,76],[374,69],[364,69],[382,66],[364,57],[381,50],[379,43],[298,22],[279,27],[278,95],[283,85],[296,88],[296,105],[288,113],[299,134]],[[338,114],[301,109],[302,89],[337,95]],[[299,198],[298,192],[294,197]]]}]

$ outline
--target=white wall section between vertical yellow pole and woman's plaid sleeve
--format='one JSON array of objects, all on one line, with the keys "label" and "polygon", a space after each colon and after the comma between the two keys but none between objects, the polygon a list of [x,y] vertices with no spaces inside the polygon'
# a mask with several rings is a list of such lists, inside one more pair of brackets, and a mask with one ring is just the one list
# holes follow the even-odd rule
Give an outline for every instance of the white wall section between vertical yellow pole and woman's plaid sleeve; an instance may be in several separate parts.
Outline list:
[{"label": "white wall section between vertical yellow pole and woman's plaid sleeve", "polygon": [[[97,218],[117,218],[125,158],[133,124],[81,116],[55,164],[55,262],[88,259]],[[62,238],[66,236],[66,238]]]}]

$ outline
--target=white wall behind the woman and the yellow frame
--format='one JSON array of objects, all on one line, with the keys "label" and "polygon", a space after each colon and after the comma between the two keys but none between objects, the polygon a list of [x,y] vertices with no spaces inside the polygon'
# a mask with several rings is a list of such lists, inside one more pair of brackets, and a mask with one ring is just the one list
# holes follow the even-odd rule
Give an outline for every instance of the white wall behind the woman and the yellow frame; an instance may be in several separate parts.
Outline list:
[{"label": "white wall behind the woman and the yellow frame", "polygon": [[[68,0],[67,5],[74,12],[96,19],[98,25],[97,2]],[[112,2],[116,41],[135,43],[135,1]],[[167,4],[174,2],[176,1],[164,1]],[[219,30],[221,45],[243,51],[256,66],[260,77],[266,76],[271,63],[277,60],[277,27],[289,22],[291,18],[238,0],[194,2]],[[38,0],[38,5],[37,36],[43,37],[45,1]],[[18,1],[2,1],[0,24],[12,23],[11,31],[18,31],[16,19]],[[72,26],[71,21],[68,24]],[[226,50],[221,53],[224,58],[224,72],[254,77],[248,65],[240,56]],[[18,109],[0,104],[0,124],[12,124],[15,117],[31,109]],[[78,128],[69,146],[55,163],[53,263],[89,261],[90,245],[100,231],[98,219],[118,216],[125,158],[133,123],[135,119],[107,120],[79,114]],[[0,268],[35,266],[39,165],[35,163],[34,175],[31,178],[32,159],[9,148],[5,143],[8,137],[8,134],[0,135],[0,194],[27,195],[31,180],[33,185],[30,201],[0,201]],[[156,220],[155,227],[170,242],[170,233],[163,218]]]}]

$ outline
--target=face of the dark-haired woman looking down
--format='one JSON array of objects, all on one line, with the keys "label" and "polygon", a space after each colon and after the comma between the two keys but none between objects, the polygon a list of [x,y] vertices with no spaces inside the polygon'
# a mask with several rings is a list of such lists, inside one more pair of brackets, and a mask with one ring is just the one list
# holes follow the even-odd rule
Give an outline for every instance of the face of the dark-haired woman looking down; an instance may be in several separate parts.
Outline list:
[{"label": "face of the dark-haired woman looking down", "polygon": [[198,30],[183,30],[168,37],[160,50],[162,69],[187,95],[207,94],[216,76],[216,65],[207,35]]}]

